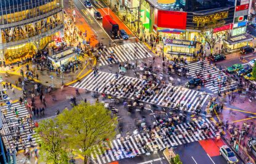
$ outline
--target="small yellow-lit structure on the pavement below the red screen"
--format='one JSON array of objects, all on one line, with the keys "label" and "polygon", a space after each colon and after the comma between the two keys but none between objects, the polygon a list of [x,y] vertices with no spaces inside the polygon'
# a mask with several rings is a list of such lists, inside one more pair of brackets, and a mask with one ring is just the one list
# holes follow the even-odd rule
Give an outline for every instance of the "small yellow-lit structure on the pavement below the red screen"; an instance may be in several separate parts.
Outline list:
[{"label": "small yellow-lit structure on the pavement below the red screen", "polygon": [[196,42],[178,39],[164,39],[164,52],[174,55],[191,56],[196,49]]}]

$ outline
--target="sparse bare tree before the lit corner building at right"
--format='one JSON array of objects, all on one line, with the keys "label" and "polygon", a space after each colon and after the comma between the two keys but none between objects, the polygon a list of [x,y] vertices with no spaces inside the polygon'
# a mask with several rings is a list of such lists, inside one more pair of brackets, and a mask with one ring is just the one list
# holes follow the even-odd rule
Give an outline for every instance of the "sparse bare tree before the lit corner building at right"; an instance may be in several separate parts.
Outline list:
[{"label": "sparse bare tree before the lit corner building at right", "polygon": [[217,44],[217,42],[221,39],[220,34],[213,33],[213,29],[211,29],[210,31],[204,31],[200,34],[202,37],[204,37],[205,42],[209,44],[210,52],[213,53],[213,48],[215,47],[215,44]]}]

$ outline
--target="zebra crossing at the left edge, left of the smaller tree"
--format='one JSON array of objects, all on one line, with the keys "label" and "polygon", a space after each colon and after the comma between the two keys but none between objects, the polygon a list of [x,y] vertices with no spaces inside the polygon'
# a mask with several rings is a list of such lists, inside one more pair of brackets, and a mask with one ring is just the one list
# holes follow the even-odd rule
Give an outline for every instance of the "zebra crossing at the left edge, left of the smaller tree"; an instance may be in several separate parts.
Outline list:
[{"label": "zebra crossing at the left edge, left of the smaller tree", "polygon": [[[16,117],[15,110],[17,109],[18,117]],[[22,150],[23,146],[30,147],[31,144],[36,146],[36,139],[33,137],[33,130],[27,123],[28,110],[24,104],[15,103],[9,108],[8,106],[1,107],[1,118],[3,127],[1,130],[4,144],[10,150],[15,149],[15,145],[18,146],[19,150]],[[23,122],[23,123],[22,123]],[[32,133],[31,133],[31,132]],[[17,133],[20,133],[21,139],[17,138]],[[31,136],[32,142],[28,141],[28,135]],[[22,141],[20,143],[20,141]]]}]

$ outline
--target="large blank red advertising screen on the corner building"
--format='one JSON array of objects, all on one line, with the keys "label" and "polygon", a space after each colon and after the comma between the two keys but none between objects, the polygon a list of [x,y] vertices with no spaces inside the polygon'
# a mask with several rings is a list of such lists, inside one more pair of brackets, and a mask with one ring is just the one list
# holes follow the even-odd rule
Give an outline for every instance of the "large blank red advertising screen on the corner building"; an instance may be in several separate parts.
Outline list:
[{"label": "large blank red advertising screen on the corner building", "polygon": [[160,28],[186,29],[186,12],[158,10],[157,26]]}]

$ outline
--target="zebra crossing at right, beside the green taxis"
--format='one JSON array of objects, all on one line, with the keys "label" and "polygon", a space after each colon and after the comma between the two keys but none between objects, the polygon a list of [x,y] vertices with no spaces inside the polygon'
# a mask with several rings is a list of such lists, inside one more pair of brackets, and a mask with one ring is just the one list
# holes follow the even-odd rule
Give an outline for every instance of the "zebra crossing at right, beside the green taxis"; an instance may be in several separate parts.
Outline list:
[{"label": "zebra crossing at right, beside the green taxis", "polygon": [[[221,92],[237,87],[237,83],[234,80],[232,80],[230,84],[228,84],[227,82],[223,84],[223,82],[226,81],[228,77],[218,68],[214,68],[212,64],[209,63],[209,61],[204,61],[203,68],[201,67],[199,62],[189,63],[188,65],[184,66],[184,68],[188,68],[189,75],[194,78],[197,77],[197,74],[200,73],[201,77],[207,80],[207,82],[205,82],[204,84],[204,87],[207,87],[213,93],[218,93],[220,87]],[[208,77],[209,74],[211,75],[210,77]]]}]

